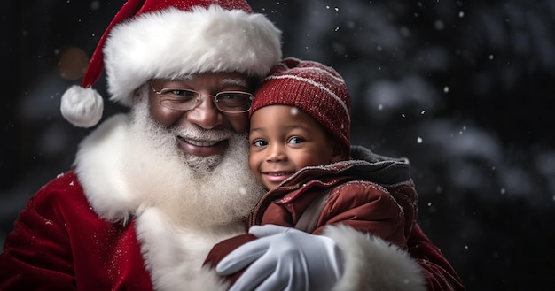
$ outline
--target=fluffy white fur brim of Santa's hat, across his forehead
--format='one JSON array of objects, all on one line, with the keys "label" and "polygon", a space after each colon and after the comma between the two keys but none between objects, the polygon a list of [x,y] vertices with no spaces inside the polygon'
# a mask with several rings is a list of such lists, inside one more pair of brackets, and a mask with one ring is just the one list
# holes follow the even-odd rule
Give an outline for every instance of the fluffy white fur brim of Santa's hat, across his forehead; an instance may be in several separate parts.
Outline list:
[{"label": "fluffy white fur brim of Santa's hat, across his forehead", "polygon": [[150,79],[239,72],[262,78],[281,59],[281,32],[262,14],[212,5],[168,8],[113,27],[104,47],[111,100],[131,105]]}]

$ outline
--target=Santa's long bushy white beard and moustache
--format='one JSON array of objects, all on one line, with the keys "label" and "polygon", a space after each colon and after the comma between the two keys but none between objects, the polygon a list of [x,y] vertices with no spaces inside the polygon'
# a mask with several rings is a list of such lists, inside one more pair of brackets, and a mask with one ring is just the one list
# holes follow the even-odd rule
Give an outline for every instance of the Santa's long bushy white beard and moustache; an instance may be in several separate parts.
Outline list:
[{"label": "Santa's long bushy white beard and moustache", "polygon": [[[156,207],[186,227],[221,228],[246,218],[264,192],[248,168],[246,134],[165,128],[150,116],[147,98],[140,99],[132,111],[123,172],[142,209]],[[177,147],[176,132],[224,134],[229,147],[220,156],[186,156]]]}]

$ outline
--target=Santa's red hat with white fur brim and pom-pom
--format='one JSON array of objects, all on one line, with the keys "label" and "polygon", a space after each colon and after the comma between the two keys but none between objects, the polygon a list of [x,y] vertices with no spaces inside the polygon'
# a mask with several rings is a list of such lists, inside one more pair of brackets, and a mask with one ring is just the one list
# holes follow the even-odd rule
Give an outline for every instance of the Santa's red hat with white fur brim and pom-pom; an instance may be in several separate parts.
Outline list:
[{"label": "Santa's red hat with white fur brim and pom-pom", "polygon": [[104,105],[91,86],[105,68],[110,99],[130,106],[133,92],[153,78],[206,72],[262,78],[280,58],[281,32],[245,0],[129,0],[60,110],[74,126],[97,125]]}]

